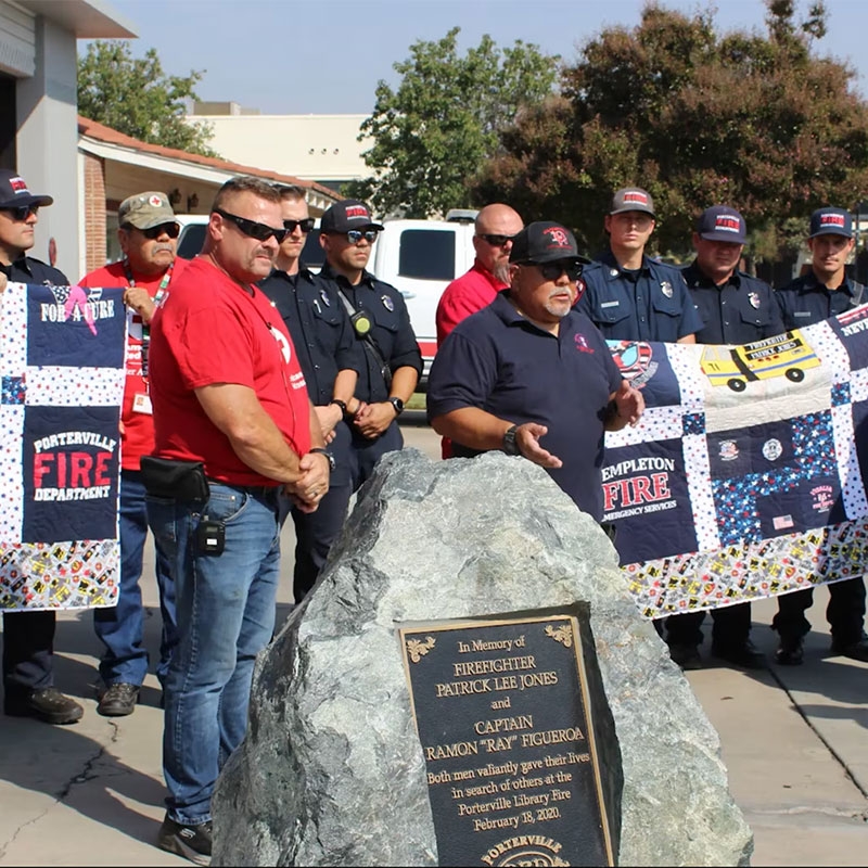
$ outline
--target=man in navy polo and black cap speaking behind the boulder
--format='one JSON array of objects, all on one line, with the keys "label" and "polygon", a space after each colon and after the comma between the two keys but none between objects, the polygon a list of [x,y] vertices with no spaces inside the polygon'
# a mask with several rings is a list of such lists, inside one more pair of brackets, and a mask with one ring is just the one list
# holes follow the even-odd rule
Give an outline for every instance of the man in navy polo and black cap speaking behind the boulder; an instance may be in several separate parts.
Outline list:
[{"label": "man in navy polo and black cap speaking behind the boulder", "polygon": [[451,438],[456,457],[500,449],[546,468],[600,521],[604,431],[636,424],[644,401],[597,327],[573,309],[588,261],[573,233],[531,224],[513,239],[509,261],[509,289],[437,350],[429,420]]}]

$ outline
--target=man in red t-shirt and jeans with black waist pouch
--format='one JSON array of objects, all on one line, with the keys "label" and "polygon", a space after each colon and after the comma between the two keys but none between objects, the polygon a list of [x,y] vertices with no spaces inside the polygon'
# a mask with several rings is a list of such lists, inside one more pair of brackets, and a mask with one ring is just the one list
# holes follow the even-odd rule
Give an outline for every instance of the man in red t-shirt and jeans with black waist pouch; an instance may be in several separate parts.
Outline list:
[{"label": "man in red t-shirt and jeans with black waist pouch", "polygon": [[295,348],[254,285],[285,235],[277,188],[227,181],[202,253],[151,329],[155,459],[142,468],[178,616],[158,845],[199,864],[210,856],[217,776],[244,737],[253,665],[275,627],[278,492],[312,511],[329,489],[331,456]]}]

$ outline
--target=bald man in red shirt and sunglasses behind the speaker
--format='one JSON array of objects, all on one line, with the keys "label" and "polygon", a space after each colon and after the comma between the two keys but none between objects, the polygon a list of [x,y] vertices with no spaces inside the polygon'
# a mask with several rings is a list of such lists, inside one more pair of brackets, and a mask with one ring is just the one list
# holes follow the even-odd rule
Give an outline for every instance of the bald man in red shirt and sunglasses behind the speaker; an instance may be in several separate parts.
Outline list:
[{"label": "bald man in red shirt and sunglasses behind the speaker", "polygon": [[[509,205],[495,202],[476,215],[473,267],[456,278],[444,291],[434,317],[437,324],[437,348],[462,319],[494,302],[501,290],[509,289],[509,254],[512,239],[524,228],[519,213]],[[444,458],[451,458],[448,437],[441,442]]]}]

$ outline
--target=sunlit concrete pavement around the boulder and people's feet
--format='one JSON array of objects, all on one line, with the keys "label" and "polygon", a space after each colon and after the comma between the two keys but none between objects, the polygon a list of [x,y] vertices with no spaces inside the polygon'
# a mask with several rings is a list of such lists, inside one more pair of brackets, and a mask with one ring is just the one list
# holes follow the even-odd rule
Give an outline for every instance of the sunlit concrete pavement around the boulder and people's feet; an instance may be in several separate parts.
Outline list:
[{"label": "sunlit concrete pavement around the boulder and people's feet", "polygon": [[[427,429],[406,425],[405,436],[438,457]],[[284,540],[279,620],[292,599],[291,527]],[[142,587],[153,650],[159,610],[151,563]],[[868,866],[868,664],[831,655],[828,591],[815,599],[804,665],[745,673],[709,661],[688,674],[753,829],[753,865]],[[753,638],[769,660],[776,607],[764,600],[753,610]],[[164,813],[156,678],[149,674],[135,714],[100,717],[92,615],[68,612],[60,622],[55,681],[84,703],[85,717],[51,727],[0,716],[0,866],[188,865],[153,845]]]}]

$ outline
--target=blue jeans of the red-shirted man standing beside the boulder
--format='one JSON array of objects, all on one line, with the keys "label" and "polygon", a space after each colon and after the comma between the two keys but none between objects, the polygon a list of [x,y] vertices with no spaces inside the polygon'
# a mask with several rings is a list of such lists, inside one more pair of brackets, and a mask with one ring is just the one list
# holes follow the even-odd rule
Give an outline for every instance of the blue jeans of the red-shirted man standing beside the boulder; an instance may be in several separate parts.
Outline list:
[{"label": "blue jeans of the red-shirted man standing beside the boulder", "polygon": [[[163,775],[176,822],[210,819],[224,763],[244,738],[256,655],[275,628],[280,559],[277,488],[210,482],[201,505],[148,498],[171,564],[179,641],[166,679]],[[222,521],[221,554],[200,554],[203,516]]]}]

